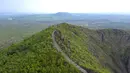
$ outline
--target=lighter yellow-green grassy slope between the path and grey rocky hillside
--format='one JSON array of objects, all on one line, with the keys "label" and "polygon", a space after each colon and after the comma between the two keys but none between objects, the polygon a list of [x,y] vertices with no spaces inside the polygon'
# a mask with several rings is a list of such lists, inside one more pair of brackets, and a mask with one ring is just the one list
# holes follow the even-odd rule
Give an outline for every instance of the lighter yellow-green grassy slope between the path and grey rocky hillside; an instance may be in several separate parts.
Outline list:
[{"label": "lighter yellow-green grassy slope between the path and grey rocky hillside", "polygon": [[[59,43],[63,51],[70,58],[85,69],[93,70],[97,73],[110,73],[109,69],[101,66],[99,61],[88,51],[88,37],[81,27],[62,24],[57,26],[61,31],[64,41]],[[57,39],[57,41],[59,41]],[[70,44],[67,44],[68,41]],[[69,47],[67,45],[70,45]]]}]

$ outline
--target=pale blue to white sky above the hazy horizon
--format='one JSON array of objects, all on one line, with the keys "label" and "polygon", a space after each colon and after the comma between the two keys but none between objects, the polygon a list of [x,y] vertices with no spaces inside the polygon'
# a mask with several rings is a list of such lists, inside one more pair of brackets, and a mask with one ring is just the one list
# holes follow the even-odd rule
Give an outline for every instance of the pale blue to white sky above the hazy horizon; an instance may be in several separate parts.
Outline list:
[{"label": "pale blue to white sky above the hazy horizon", "polygon": [[0,13],[130,13],[129,0],[0,0]]}]

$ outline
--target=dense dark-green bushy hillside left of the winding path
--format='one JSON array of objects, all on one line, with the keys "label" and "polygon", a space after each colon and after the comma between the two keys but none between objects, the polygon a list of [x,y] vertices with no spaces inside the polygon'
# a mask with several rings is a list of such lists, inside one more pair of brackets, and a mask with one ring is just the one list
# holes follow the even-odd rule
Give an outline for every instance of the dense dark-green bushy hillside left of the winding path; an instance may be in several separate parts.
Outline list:
[{"label": "dense dark-green bushy hillside left of the winding path", "polygon": [[53,47],[53,29],[0,51],[0,73],[79,73]]}]

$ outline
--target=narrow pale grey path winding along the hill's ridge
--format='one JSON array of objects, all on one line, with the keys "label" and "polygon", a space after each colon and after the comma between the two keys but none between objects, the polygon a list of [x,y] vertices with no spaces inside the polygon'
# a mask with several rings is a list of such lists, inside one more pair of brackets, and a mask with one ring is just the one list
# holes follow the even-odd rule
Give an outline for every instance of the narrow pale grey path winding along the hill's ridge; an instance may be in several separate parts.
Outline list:
[{"label": "narrow pale grey path winding along the hill's ridge", "polygon": [[57,42],[55,41],[55,33],[56,30],[52,33],[52,39],[53,39],[53,44],[55,46],[55,48],[57,49],[58,52],[61,52],[61,54],[64,56],[64,58],[72,65],[74,65],[75,67],[77,67],[82,73],[88,73],[86,70],[84,70],[83,68],[81,68],[79,65],[77,65],[75,62],[73,62],[60,48],[60,46],[57,44]]}]

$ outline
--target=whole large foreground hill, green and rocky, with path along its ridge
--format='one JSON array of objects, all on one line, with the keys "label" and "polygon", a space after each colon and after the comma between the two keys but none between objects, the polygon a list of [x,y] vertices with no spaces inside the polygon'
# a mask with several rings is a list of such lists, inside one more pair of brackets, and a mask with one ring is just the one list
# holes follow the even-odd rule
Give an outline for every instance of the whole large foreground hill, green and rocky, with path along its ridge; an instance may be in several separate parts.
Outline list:
[{"label": "whole large foreground hill, green and rocky, with path along its ridge", "polygon": [[130,73],[129,46],[124,30],[62,23],[1,50],[0,73]]}]

